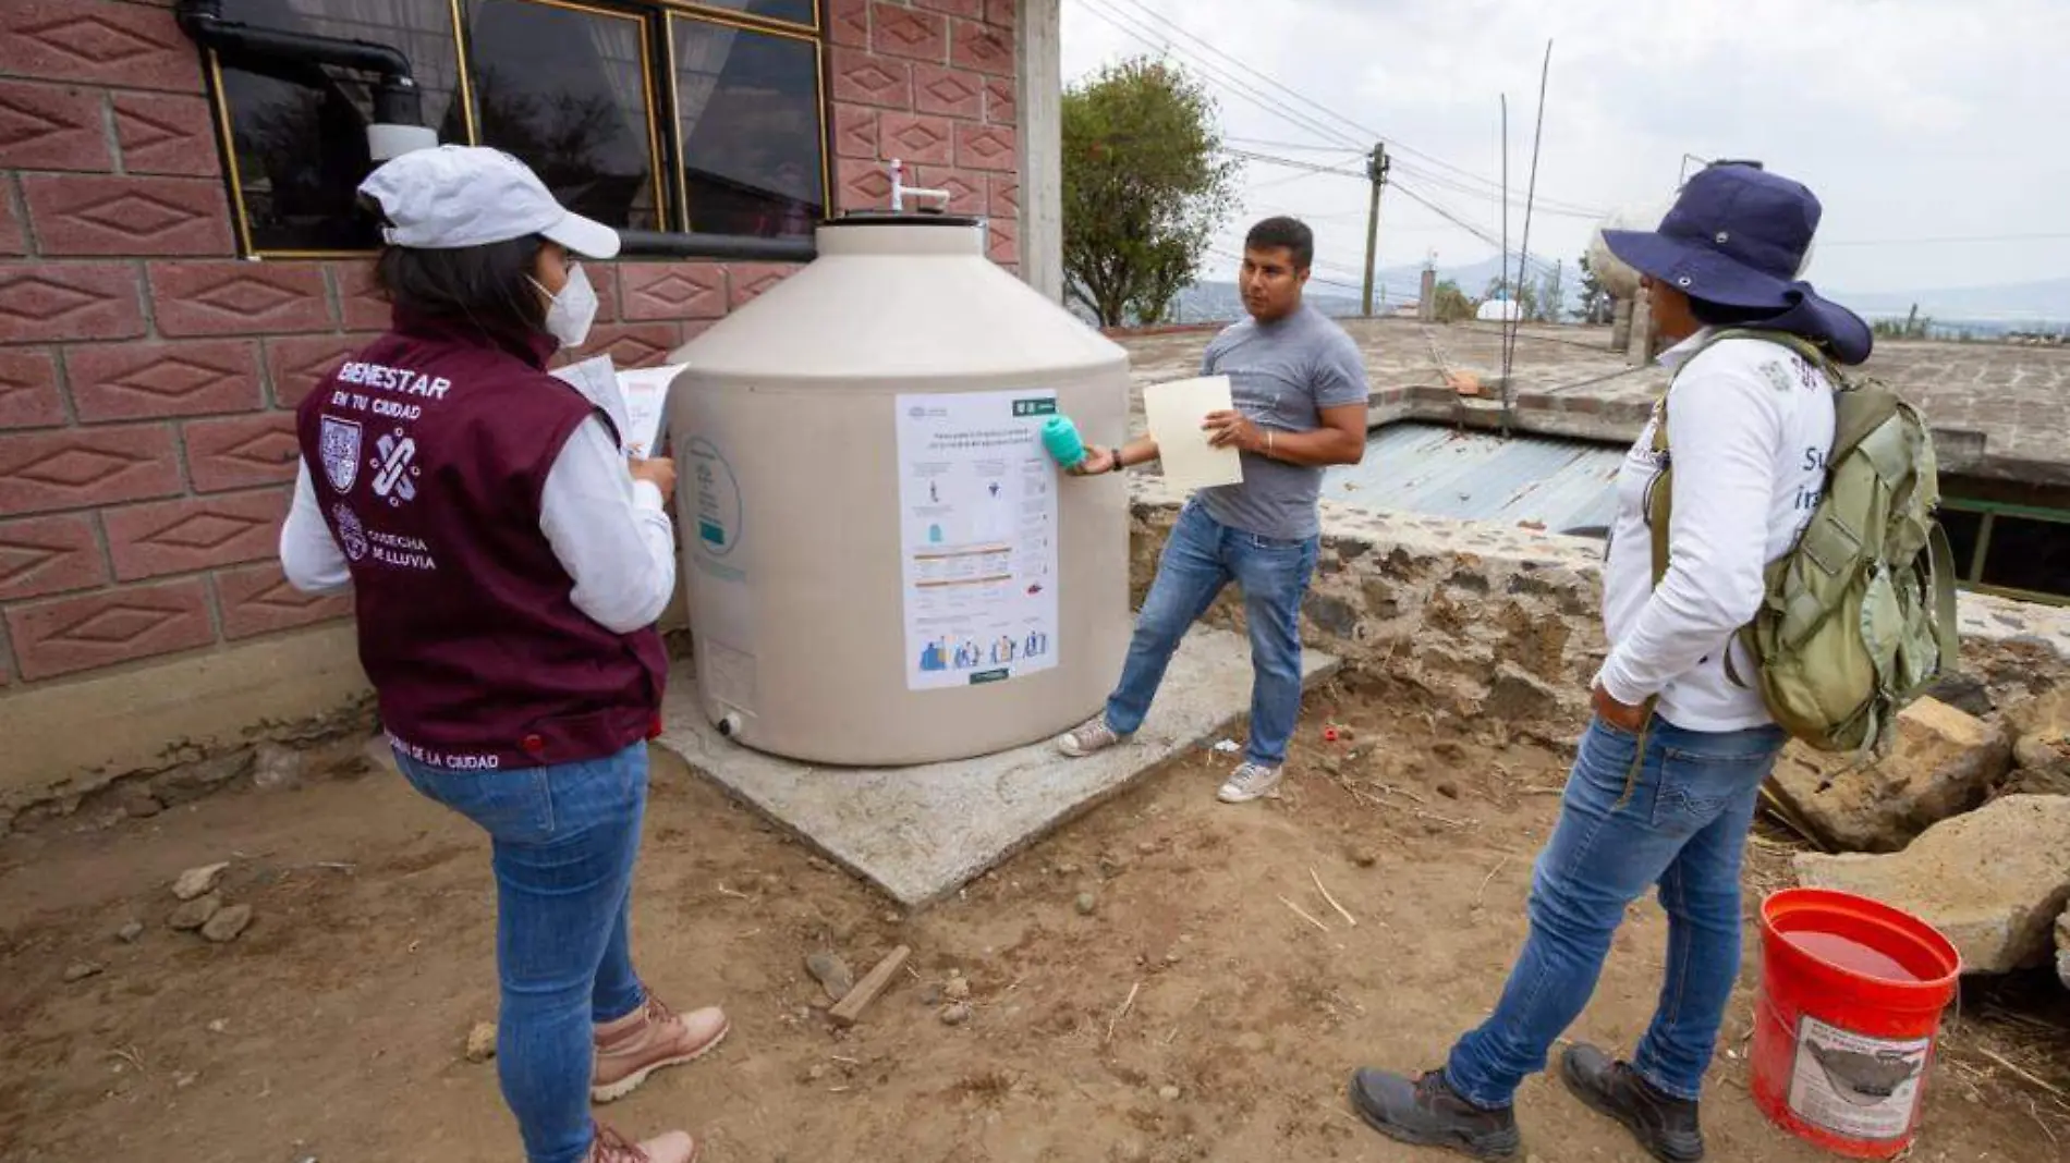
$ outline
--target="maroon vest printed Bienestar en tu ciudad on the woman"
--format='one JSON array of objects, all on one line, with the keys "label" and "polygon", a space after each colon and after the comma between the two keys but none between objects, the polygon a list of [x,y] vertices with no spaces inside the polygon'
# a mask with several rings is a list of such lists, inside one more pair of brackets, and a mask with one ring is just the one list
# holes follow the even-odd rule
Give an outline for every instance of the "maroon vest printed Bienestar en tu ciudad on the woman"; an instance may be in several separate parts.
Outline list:
[{"label": "maroon vest printed Bienestar en tu ciudad on the woman", "polygon": [[658,726],[660,635],[578,610],[538,528],[546,472],[596,414],[546,375],[549,346],[397,312],[296,410],[352,567],[360,664],[389,737],[422,764],[573,764]]}]

